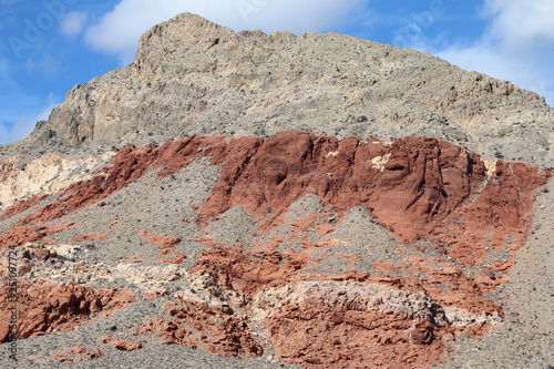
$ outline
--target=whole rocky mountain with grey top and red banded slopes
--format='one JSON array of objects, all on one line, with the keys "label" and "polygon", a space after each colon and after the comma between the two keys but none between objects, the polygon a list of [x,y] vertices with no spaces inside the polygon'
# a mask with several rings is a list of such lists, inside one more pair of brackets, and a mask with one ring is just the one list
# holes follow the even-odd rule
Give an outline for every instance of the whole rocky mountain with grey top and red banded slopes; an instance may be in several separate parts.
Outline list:
[{"label": "whole rocky mountain with grey top and red banded slopes", "polygon": [[0,146],[0,366],[550,368],[553,122],[430,54],[179,14]]}]

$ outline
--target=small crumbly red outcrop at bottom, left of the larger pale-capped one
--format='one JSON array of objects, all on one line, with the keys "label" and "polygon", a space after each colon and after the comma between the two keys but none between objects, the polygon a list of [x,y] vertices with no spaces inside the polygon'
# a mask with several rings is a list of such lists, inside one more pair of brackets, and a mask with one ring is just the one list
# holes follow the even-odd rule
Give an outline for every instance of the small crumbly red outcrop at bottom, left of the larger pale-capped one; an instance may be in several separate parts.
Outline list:
[{"label": "small crumbly red outcrop at bottom, left of the larger pale-capped one", "polygon": [[184,345],[228,357],[253,358],[264,352],[252,338],[246,317],[192,300],[166,303],[164,310],[175,319],[152,319],[138,332],[162,337],[164,345]]}]

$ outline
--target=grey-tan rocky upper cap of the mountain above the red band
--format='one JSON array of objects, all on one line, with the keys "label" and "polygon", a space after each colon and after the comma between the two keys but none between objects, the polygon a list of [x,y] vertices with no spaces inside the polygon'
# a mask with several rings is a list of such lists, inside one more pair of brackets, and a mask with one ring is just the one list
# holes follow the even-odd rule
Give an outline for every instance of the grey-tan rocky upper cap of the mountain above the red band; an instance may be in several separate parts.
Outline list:
[{"label": "grey-tan rocky upper cap of the mountain above the red band", "polygon": [[418,51],[337,33],[265,34],[184,13],[140,40],[130,65],[75,85],[29,144],[121,145],[299,129],[445,139],[552,166],[543,98]]}]

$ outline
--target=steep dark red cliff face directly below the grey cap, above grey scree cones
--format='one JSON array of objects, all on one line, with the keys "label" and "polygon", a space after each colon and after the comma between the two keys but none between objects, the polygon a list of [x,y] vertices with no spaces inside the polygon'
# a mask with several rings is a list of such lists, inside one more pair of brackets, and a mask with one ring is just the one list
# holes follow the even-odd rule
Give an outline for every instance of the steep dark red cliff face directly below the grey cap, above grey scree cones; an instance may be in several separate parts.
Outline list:
[{"label": "steep dark red cliff face directly below the grey cap, above grey scree cones", "polygon": [[[255,151],[258,141],[237,141],[201,218],[243,205],[255,218],[279,214],[306,194],[339,212],[357,205],[403,242],[427,236],[459,206],[484,177],[478,155],[434,139],[407,137],[391,146],[357,137],[338,141],[306,132],[277,133]],[[246,145],[246,146],[245,146]],[[247,153],[244,155],[242,153]]]}]

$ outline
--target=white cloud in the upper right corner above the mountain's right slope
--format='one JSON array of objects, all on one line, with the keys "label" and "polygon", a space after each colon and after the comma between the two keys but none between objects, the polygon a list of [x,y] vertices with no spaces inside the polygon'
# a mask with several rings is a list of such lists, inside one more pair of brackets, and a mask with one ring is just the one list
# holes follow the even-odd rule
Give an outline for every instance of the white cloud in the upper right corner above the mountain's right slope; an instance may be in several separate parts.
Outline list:
[{"label": "white cloud in the upper right corner above the mountain's right slope", "polygon": [[490,24],[480,40],[428,51],[491,76],[535,91],[554,104],[554,6],[552,0],[484,0]]}]

